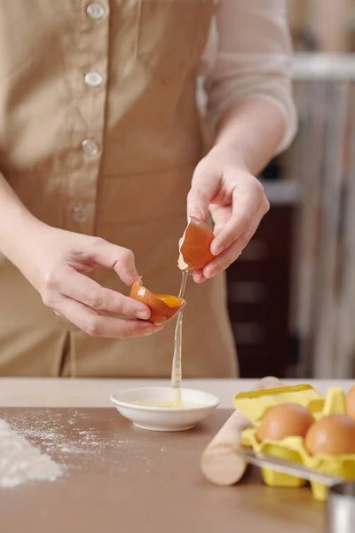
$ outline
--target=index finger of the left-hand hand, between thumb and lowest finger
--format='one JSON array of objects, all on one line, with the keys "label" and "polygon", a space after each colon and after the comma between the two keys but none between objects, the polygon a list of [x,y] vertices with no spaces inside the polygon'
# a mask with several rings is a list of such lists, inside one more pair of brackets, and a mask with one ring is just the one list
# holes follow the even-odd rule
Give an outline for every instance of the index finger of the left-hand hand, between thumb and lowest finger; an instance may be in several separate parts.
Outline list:
[{"label": "index finger of the left-hand hand, between thumb and lowest finger", "polygon": [[91,307],[95,311],[123,314],[127,318],[146,320],[150,317],[150,309],[133,298],[123,296],[115,290],[105,289],[97,282],[75,268],[66,267],[59,275],[59,290],[69,298]]}]

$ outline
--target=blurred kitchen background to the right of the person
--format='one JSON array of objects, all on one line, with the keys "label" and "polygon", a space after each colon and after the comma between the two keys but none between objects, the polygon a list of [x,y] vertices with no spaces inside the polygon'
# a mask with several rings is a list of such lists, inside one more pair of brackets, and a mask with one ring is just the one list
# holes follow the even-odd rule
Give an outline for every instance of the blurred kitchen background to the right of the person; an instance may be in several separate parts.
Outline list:
[{"label": "blurred kitchen background to the right of the person", "polygon": [[241,377],[355,378],[355,0],[288,0],[299,132],[228,271]]}]

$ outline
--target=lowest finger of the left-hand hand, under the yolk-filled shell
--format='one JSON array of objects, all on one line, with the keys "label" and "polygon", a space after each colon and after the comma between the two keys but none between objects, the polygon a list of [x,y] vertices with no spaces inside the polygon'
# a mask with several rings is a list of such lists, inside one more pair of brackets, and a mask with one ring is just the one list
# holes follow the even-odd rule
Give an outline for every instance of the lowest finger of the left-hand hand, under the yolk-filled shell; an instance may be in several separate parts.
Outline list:
[{"label": "lowest finger of the left-hand hand, under the yolk-filled shell", "polygon": [[162,326],[154,326],[150,322],[101,315],[71,298],[62,298],[56,311],[92,337],[142,337],[162,330]]}]

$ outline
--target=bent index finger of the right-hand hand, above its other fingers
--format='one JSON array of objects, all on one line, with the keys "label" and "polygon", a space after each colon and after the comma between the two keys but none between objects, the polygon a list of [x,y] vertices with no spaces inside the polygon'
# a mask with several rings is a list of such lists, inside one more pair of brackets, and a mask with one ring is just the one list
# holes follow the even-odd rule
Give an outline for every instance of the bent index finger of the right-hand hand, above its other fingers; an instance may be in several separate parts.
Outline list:
[{"label": "bent index finger of the right-hand hand, above its other fingers", "polygon": [[233,191],[232,216],[211,243],[211,252],[218,255],[246,234],[256,218],[258,197],[254,187]]}]

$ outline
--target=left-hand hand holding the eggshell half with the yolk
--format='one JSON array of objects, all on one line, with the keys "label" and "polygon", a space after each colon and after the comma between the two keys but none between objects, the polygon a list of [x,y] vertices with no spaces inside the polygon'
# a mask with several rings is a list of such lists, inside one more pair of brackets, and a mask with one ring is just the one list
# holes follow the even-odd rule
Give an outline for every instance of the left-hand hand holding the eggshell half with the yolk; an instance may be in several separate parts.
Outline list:
[{"label": "left-hand hand holding the eggshell half with the yolk", "polygon": [[38,290],[44,305],[89,335],[128,338],[162,329],[146,322],[149,307],[84,275],[97,266],[111,268],[122,282],[132,285],[139,277],[132,251],[31,219],[15,255],[13,262]]}]

